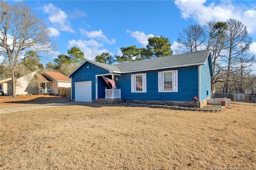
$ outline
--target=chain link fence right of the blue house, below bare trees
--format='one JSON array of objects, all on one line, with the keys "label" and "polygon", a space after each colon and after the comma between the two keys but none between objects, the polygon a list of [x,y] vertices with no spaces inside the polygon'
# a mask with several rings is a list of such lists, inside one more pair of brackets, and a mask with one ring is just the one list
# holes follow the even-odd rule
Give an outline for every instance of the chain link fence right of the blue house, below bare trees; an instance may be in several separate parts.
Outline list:
[{"label": "chain link fence right of the blue house, below bare trees", "polygon": [[216,98],[227,98],[231,99],[233,102],[247,102],[247,103],[256,103],[256,95],[248,95],[246,93],[212,93],[212,99]]}]

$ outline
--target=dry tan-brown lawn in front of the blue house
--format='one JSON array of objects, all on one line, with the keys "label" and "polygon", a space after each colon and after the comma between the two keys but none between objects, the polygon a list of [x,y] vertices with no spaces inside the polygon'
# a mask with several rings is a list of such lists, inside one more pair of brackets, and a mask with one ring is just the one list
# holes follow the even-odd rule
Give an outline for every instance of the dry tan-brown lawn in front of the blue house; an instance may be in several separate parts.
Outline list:
[{"label": "dry tan-brown lawn in front of the blue house", "polygon": [[[0,99],[1,108],[40,101]],[[255,104],[221,112],[73,105],[0,117],[0,169],[256,170]]]}]

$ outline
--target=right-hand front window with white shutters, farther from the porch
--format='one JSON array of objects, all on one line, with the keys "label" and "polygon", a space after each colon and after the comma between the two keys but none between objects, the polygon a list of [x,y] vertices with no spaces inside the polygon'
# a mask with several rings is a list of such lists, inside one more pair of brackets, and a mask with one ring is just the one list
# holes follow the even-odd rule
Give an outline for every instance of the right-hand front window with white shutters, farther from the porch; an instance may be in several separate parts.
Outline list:
[{"label": "right-hand front window with white shutters, farther from the porch", "polygon": [[178,70],[158,72],[158,92],[178,92]]}]

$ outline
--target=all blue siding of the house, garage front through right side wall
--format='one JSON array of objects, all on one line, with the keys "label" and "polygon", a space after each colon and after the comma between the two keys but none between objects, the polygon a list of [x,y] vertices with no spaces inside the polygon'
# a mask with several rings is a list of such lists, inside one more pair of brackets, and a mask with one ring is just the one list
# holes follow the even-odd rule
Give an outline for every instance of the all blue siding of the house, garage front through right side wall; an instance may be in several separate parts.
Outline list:
[{"label": "all blue siding of the house, garage front through right side wall", "polygon": [[[210,55],[209,55],[210,57]],[[121,89],[122,100],[148,100],[148,101],[193,101],[193,97],[199,97],[204,100],[210,97],[211,91],[211,75],[212,67],[211,60],[208,57],[205,65],[178,67],[172,69],[161,69],[153,71],[142,71],[134,73],[122,73],[116,81],[116,86]],[[210,64],[209,64],[210,63]],[[89,68],[87,68],[89,66]],[[198,71],[200,67],[200,81]],[[158,72],[178,70],[178,92],[158,92]],[[75,83],[82,81],[92,81],[92,100],[96,99],[96,83],[95,75],[108,74],[109,71],[98,67],[90,62],[85,62],[79,69],[77,69],[70,77],[72,77],[72,99],[75,99]],[[131,92],[131,74],[146,73],[147,92],[146,93],[132,93]],[[111,79],[111,76],[106,76]],[[200,82],[200,89],[199,83]],[[105,87],[110,89],[102,77],[98,77],[98,99],[105,98]],[[208,91],[208,95],[206,95]]]}]

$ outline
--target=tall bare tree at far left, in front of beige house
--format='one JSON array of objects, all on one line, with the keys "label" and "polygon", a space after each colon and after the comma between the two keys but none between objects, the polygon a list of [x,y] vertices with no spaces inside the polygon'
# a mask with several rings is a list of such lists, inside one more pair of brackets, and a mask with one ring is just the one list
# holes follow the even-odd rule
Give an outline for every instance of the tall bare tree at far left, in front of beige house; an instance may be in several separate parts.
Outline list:
[{"label": "tall bare tree at far left, in front of beige house", "polygon": [[24,2],[8,4],[0,1],[0,55],[10,68],[12,96],[16,96],[16,79],[19,63],[27,51],[49,53],[55,48],[49,38],[50,30],[45,23],[32,14],[30,6]]}]

